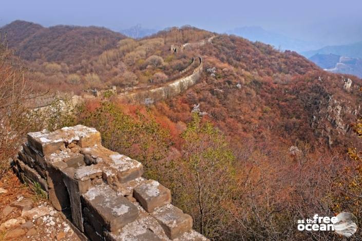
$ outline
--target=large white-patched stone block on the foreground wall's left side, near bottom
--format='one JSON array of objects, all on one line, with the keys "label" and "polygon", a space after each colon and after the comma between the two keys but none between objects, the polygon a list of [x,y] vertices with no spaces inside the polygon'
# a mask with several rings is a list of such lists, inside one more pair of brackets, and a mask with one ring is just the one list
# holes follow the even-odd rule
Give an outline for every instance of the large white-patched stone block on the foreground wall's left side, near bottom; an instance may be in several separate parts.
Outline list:
[{"label": "large white-patched stone block on the foreground wall's left side, near bottom", "polygon": [[134,204],[105,184],[91,187],[82,199],[97,222],[111,232],[133,222],[138,216]]}]

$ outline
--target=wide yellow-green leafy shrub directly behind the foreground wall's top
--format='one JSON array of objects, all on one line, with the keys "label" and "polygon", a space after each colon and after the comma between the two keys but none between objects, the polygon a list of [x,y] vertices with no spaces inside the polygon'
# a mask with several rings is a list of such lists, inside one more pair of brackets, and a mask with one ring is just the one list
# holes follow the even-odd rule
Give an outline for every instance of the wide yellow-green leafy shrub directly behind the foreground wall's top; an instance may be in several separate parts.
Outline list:
[{"label": "wide yellow-green leafy shrub directly behind the foreground wall's top", "polygon": [[149,112],[137,111],[136,116],[131,116],[116,104],[104,102],[94,111],[83,106],[77,116],[79,124],[101,132],[106,148],[139,160],[148,178],[162,179],[162,160],[168,154],[169,134]]}]

